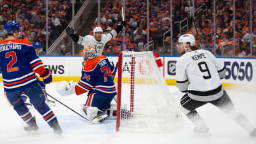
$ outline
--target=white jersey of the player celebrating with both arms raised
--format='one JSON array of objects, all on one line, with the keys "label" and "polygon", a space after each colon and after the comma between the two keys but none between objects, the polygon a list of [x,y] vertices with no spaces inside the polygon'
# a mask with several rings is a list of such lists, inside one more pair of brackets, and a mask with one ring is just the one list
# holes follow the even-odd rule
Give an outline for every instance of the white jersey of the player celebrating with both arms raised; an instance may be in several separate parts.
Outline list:
[{"label": "white jersey of the player celebrating with both arms raised", "polygon": [[108,34],[102,34],[102,39],[100,41],[96,41],[94,36],[87,35],[87,36],[79,36],[78,44],[82,44],[84,47],[88,45],[93,45],[97,50],[97,55],[102,55],[102,51],[105,47],[106,42],[110,41],[114,37],[117,36],[116,30],[110,31]]}]

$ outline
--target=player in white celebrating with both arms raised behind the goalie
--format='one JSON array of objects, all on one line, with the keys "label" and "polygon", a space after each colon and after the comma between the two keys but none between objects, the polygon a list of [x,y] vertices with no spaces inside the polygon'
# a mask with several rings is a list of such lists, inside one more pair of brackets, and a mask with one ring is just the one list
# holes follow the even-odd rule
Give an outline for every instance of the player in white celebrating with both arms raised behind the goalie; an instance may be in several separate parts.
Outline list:
[{"label": "player in white celebrating with both arms raised behind the goalie", "polygon": [[115,38],[123,27],[126,27],[126,22],[121,22],[121,25],[117,25],[116,29],[110,31],[110,33],[103,34],[102,28],[100,26],[95,26],[93,31],[94,35],[86,35],[84,37],[74,34],[74,30],[70,27],[66,28],[66,33],[70,35],[74,42],[82,44],[84,47],[89,45],[94,46],[97,50],[97,55],[102,55],[106,42]]}]

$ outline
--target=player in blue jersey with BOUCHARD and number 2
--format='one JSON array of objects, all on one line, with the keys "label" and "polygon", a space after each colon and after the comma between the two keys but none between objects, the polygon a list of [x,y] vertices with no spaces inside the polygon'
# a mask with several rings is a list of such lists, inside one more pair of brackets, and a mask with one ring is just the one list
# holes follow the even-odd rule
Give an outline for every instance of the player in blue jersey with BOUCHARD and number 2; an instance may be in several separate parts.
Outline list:
[{"label": "player in blue jersey with BOUCHARD and number 2", "polygon": [[45,84],[52,82],[52,74],[36,55],[30,41],[18,39],[20,36],[20,24],[8,21],[4,25],[7,31],[7,39],[0,41],[0,68],[2,81],[7,102],[14,108],[18,116],[28,126],[26,131],[38,130],[36,118],[21,98],[22,92],[30,98],[34,108],[42,115],[44,120],[54,129],[55,134],[61,134],[57,118],[49,106],[45,103],[46,98],[38,84],[35,73],[43,78]]}]

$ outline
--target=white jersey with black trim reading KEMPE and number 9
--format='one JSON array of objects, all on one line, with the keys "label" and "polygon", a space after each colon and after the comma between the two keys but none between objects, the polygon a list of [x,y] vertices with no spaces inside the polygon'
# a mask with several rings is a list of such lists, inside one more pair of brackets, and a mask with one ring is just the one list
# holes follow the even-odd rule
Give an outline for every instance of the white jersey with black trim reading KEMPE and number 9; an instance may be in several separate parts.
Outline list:
[{"label": "white jersey with black trim reading KEMPE and number 9", "polygon": [[[193,100],[209,102],[223,95],[225,67],[208,50],[193,50],[178,58],[176,64],[177,87],[188,92]],[[225,78],[225,75],[224,75]]]}]

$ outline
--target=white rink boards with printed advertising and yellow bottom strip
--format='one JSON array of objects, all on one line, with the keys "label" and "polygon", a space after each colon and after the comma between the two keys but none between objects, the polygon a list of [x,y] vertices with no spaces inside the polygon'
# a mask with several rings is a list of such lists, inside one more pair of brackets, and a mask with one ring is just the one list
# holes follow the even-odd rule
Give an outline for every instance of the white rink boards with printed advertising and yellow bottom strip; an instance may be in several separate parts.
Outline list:
[{"label": "white rink boards with printed advertising and yellow bottom strip", "polygon": [[[79,81],[83,65],[81,56],[41,56],[46,68],[52,71],[53,81]],[[176,62],[179,57],[161,57],[164,66],[161,70],[168,85],[176,85]],[[109,56],[113,66],[117,66],[118,56]],[[226,78],[222,79],[224,86],[255,86],[256,58],[218,57],[218,60],[226,66]],[[129,71],[130,65],[127,69]],[[116,77],[118,74],[116,74]],[[2,76],[0,73],[0,81]],[[115,78],[117,81],[117,78]]]}]

